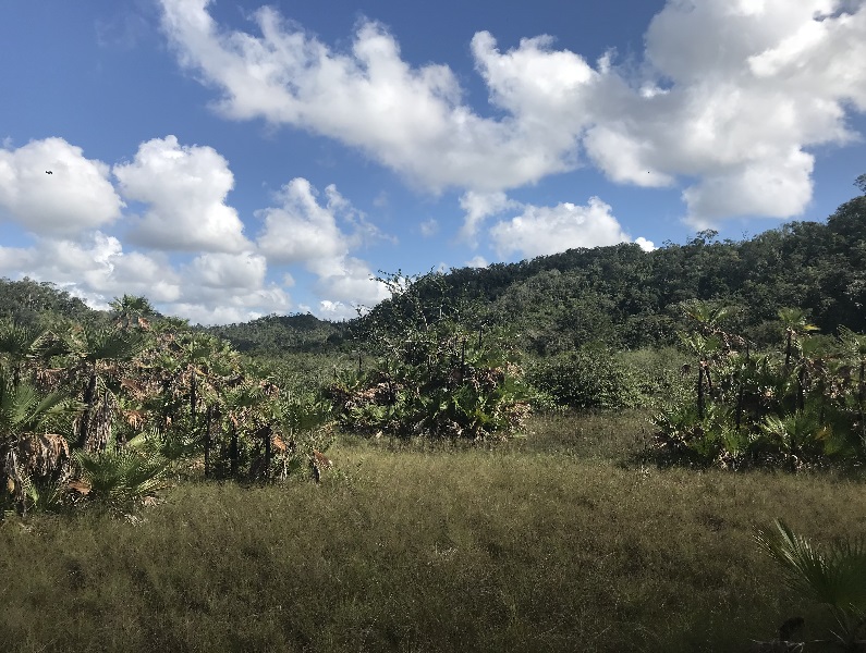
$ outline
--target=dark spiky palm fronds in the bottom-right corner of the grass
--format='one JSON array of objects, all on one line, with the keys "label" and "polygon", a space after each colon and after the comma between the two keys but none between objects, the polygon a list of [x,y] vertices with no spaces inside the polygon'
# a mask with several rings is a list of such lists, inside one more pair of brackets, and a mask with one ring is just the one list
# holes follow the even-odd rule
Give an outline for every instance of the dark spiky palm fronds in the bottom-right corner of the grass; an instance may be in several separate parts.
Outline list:
[{"label": "dark spiky palm fronds in the bottom-right corner of the grass", "polygon": [[790,589],[826,606],[837,627],[833,642],[843,651],[866,650],[866,541],[834,541],[820,547],[795,534],[784,522],[761,528],[758,546],[781,565]]}]

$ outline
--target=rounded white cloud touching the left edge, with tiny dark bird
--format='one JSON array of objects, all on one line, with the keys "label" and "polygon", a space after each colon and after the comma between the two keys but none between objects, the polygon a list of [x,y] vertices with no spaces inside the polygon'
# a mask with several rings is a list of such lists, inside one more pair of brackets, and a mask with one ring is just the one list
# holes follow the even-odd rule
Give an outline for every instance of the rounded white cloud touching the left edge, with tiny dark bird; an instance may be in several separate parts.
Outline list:
[{"label": "rounded white cloud touching the left edge, with tiny dark bird", "polygon": [[[51,174],[47,174],[50,172]],[[0,149],[0,218],[38,235],[71,236],[114,222],[123,202],[109,168],[62,138]]]}]

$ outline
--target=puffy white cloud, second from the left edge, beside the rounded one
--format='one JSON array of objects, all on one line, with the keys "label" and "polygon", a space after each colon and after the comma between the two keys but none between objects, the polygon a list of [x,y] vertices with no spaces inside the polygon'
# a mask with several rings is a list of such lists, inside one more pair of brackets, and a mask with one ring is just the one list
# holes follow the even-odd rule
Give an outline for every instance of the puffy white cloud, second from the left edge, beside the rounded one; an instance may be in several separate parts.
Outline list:
[{"label": "puffy white cloud, second from the left edge, beside the rounded one", "polygon": [[138,147],[114,167],[124,197],[149,205],[131,241],[155,249],[240,252],[253,247],[237,212],[225,205],[234,186],[229,164],[210,147],[181,146],[175,136]]}]

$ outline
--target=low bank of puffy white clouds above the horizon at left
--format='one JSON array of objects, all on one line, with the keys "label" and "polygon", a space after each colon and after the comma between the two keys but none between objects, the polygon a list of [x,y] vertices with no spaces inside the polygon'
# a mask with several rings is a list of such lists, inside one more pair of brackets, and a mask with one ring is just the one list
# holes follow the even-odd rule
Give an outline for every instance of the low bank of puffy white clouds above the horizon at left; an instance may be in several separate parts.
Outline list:
[{"label": "low bank of puffy white clouds above the horizon at left", "polygon": [[[141,144],[132,161],[113,169],[62,138],[0,148],[0,218],[33,241],[0,246],[0,274],[26,271],[97,308],[124,293],[145,295],[202,323],[298,308],[345,318],[383,298],[367,263],[352,256],[383,236],[334,186],[319,204],[309,182],[292,180],[275,197],[278,206],[259,212],[264,225],[253,241],[225,204],[233,180],[216,150],[174,136]],[[144,207],[144,215],[124,214],[126,202]],[[134,248],[110,226],[126,230]],[[288,273],[282,283],[268,281],[269,268],[296,262],[315,275],[318,306],[292,303]]]}]

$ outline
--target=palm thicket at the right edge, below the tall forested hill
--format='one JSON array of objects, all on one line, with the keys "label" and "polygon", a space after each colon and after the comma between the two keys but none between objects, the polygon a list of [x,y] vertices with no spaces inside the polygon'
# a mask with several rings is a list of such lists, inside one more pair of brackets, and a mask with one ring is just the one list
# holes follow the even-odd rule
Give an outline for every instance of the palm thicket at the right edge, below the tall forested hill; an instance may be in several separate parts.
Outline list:
[{"label": "palm thicket at the right edge, below the tall forested hill", "polygon": [[656,419],[664,463],[796,471],[857,466],[866,458],[866,336],[840,326],[835,338],[798,309],[780,309],[784,337],[757,349],[721,329],[725,307],[693,303],[697,322],[681,334],[693,356],[694,392],[673,396]]}]

